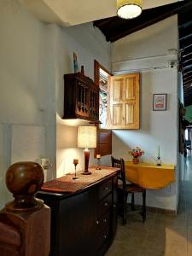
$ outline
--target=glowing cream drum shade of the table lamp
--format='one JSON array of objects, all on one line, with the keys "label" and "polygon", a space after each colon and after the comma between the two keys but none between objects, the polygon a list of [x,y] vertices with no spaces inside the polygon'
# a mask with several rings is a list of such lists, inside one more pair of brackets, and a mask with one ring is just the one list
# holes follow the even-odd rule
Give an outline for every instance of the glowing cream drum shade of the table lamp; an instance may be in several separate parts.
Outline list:
[{"label": "glowing cream drum shade of the table lamp", "polygon": [[78,127],[78,148],[96,148],[96,126]]}]

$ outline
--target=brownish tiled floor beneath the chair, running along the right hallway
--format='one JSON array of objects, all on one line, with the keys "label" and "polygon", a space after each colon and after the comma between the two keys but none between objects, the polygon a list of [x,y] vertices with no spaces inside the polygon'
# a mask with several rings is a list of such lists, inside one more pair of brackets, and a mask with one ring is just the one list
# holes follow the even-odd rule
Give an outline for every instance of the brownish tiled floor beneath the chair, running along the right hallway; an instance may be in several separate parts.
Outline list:
[{"label": "brownish tiled floor beneath the chair, running along the right hallway", "polygon": [[182,173],[177,217],[147,212],[145,223],[129,215],[123,226],[119,219],[112,246],[105,256],[192,256],[192,156]]}]

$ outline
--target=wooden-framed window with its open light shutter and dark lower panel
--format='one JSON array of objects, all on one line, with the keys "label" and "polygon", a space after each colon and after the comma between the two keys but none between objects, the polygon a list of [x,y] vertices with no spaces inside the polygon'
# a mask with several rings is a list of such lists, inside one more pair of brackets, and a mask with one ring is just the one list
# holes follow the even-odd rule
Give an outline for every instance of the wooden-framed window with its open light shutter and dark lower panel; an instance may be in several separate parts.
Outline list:
[{"label": "wooden-framed window with its open light shutter and dark lower panel", "polygon": [[[100,87],[96,154],[111,154],[113,129],[139,129],[140,74],[112,76],[95,61],[95,83]],[[107,130],[108,129],[108,130]]]}]

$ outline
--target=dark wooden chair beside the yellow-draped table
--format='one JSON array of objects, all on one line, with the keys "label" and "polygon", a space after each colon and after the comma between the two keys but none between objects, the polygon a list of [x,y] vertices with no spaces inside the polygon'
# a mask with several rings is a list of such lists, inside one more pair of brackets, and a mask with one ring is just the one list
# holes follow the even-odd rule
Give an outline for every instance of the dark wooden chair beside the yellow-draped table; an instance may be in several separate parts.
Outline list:
[{"label": "dark wooden chair beside the yellow-draped table", "polygon": [[120,160],[111,157],[112,166],[113,167],[119,167],[120,172],[118,176],[118,213],[123,218],[123,224],[126,224],[126,214],[127,214],[127,197],[129,194],[131,194],[131,211],[132,212],[138,212],[135,210],[135,193],[142,193],[143,195],[143,207],[142,207],[142,217],[143,222],[146,219],[146,189],[143,189],[142,187],[138,186],[134,183],[126,183],[125,178],[125,161],[121,158]]}]

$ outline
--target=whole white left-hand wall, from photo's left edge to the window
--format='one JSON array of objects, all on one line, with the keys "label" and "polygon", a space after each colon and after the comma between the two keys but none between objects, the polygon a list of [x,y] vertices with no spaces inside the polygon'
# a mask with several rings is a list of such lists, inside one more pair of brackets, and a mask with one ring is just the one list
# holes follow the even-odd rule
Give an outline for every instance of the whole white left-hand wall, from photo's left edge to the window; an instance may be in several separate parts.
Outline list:
[{"label": "whole white left-hand wall, from photo's left edge to the window", "polygon": [[[15,161],[49,157],[54,177],[73,171],[73,158],[79,158],[79,168],[83,168],[84,154],[76,148],[76,133],[77,125],[88,123],[73,124],[61,119],[63,74],[73,73],[74,51],[79,69],[84,65],[85,75],[94,79],[94,59],[110,70],[111,47],[92,23],[68,28],[44,24],[18,0],[0,1],[0,22],[0,207],[3,207],[10,200],[5,172]],[[90,157],[90,163],[94,162],[93,150]]]}]

